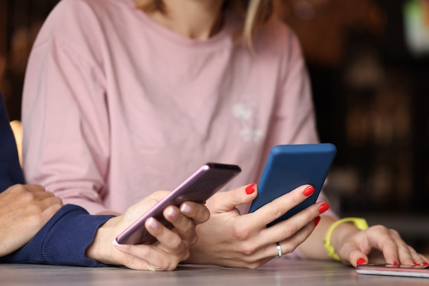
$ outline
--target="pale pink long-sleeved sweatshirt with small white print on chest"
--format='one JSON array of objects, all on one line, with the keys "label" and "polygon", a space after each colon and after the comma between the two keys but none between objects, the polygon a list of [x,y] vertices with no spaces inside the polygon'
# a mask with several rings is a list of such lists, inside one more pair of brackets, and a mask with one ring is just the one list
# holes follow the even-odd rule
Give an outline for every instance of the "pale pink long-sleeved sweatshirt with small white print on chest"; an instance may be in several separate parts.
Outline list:
[{"label": "pale pink long-sleeved sweatshirt with small white print on chest", "polygon": [[258,181],[275,144],[318,142],[295,34],[273,18],[251,53],[236,27],[229,14],[191,40],[132,0],[60,1],[25,77],[27,181],[90,213],[124,212],[208,161],[241,166],[231,190]]}]

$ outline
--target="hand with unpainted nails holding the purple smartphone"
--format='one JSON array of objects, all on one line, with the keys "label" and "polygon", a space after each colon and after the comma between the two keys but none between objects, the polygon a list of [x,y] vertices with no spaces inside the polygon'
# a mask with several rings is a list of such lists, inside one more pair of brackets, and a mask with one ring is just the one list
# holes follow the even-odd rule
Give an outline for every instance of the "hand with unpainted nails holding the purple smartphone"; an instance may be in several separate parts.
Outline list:
[{"label": "hand with unpainted nails holding the purple smartphone", "polygon": [[189,247],[197,242],[195,225],[208,220],[210,213],[201,204],[182,203],[180,208],[169,206],[163,215],[174,226],[167,229],[155,218],[145,222],[147,231],[158,242],[151,245],[118,245],[114,239],[153,207],[169,192],[156,192],[133,205],[124,215],[111,218],[97,231],[86,255],[100,263],[124,265],[135,270],[174,270],[177,264],[189,257]]}]

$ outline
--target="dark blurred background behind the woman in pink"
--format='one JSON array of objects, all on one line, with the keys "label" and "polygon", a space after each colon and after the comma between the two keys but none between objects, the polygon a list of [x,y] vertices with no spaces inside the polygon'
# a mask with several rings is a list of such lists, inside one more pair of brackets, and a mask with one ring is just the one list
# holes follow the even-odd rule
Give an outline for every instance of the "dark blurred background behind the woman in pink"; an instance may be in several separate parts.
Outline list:
[{"label": "dark blurred background behind the woman in pink", "polygon": [[[321,142],[338,148],[332,207],[393,227],[429,253],[429,0],[280,1],[302,43]],[[0,1],[10,120],[21,118],[29,51],[57,2]]]}]

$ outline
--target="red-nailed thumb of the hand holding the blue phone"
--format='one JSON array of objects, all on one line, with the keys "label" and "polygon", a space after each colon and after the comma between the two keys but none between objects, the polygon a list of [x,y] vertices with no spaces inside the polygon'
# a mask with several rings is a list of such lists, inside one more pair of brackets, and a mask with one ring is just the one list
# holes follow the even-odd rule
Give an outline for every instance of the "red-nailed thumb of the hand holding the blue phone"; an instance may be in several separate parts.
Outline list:
[{"label": "red-nailed thumb of the hand holding the blue phone", "polygon": [[206,206],[211,213],[223,213],[232,211],[237,205],[252,202],[257,195],[256,183],[252,183],[228,192],[218,192],[207,200]]}]

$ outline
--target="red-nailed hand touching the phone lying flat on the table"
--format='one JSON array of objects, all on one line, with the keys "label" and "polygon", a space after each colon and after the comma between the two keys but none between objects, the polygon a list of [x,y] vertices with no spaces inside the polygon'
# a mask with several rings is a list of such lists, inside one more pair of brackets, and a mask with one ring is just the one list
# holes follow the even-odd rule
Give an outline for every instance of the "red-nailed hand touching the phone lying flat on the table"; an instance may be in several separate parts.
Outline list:
[{"label": "red-nailed hand touching the phone lying flat on the table", "polygon": [[[428,257],[417,253],[397,231],[376,225],[359,231],[352,224],[340,224],[332,233],[332,245],[341,261],[354,267],[369,262],[427,265]],[[334,239],[335,237],[339,237]],[[341,238],[342,237],[342,238]],[[374,260],[375,259],[375,260]]]}]

